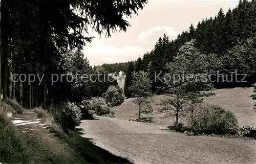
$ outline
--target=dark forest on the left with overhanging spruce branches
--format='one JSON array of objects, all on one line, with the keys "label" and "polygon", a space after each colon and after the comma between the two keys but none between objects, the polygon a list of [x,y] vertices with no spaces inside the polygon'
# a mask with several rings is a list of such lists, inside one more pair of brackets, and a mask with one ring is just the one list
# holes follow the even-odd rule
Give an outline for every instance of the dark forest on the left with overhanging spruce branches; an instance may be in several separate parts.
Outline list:
[{"label": "dark forest on the left with overhanging spruce branches", "polygon": [[[118,2],[118,3],[117,3]],[[0,95],[27,108],[61,102],[80,105],[101,96],[116,80],[102,67],[92,68],[81,53],[93,41],[88,33],[111,37],[130,26],[123,17],[143,9],[140,1],[1,1]],[[115,20],[115,21],[113,21]],[[103,73],[95,82],[73,79]],[[65,75],[61,77],[61,75]]]}]

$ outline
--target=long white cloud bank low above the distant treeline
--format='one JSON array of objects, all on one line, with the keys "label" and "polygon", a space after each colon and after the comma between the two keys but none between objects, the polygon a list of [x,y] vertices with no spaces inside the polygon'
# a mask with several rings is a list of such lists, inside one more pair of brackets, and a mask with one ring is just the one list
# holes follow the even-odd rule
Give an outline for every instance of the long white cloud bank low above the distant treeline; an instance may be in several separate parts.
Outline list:
[{"label": "long white cloud bank low above the distant treeline", "polygon": [[117,48],[114,45],[95,44],[84,48],[83,54],[91,65],[136,60],[148,50],[137,45],[126,45]]}]

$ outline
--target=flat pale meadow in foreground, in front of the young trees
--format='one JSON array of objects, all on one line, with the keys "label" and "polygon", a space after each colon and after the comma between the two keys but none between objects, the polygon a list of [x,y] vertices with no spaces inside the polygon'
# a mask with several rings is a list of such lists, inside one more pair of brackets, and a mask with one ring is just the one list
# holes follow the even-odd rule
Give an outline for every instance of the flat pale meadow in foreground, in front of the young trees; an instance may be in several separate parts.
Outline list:
[{"label": "flat pale meadow in foreground, in front of the young trees", "polygon": [[135,163],[256,163],[255,140],[187,136],[158,125],[96,117],[83,137]]}]

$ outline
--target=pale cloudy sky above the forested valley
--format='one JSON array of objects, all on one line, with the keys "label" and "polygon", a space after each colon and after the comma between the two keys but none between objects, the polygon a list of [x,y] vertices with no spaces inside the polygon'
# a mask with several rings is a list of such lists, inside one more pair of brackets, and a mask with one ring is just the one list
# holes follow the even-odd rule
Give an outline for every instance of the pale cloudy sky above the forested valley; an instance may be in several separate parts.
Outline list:
[{"label": "pale cloudy sky above the forested valley", "polygon": [[90,65],[137,60],[154,48],[156,41],[164,33],[169,39],[175,39],[179,33],[188,30],[190,24],[195,27],[203,18],[214,17],[220,8],[227,12],[234,8],[239,0],[149,0],[138,15],[126,18],[131,27],[126,32],[112,33],[112,37],[91,32],[94,40],[84,46],[83,54]]}]

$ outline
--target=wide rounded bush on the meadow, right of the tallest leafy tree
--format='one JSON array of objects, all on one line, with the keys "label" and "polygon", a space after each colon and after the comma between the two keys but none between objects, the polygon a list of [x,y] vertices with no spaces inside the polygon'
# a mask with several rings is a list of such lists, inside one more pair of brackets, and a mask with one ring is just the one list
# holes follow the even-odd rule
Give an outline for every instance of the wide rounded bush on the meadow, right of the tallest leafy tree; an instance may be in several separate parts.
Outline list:
[{"label": "wide rounded bush on the meadow, right of the tallest leafy tree", "polygon": [[198,105],[191,121],[194,132],[205,134],[235,134],[238,130],[236,116],[214,105]]}]

